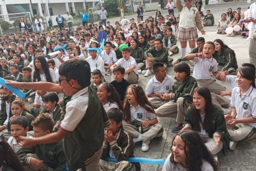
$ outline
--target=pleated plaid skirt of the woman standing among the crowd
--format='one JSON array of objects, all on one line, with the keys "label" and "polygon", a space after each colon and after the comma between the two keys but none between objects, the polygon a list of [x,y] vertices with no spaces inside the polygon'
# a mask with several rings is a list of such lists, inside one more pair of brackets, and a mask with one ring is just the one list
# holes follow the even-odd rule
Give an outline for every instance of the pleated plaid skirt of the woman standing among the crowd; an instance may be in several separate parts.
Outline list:
[{"label": "pleated plaid skirt of the woman standing among the crowd", "polygon": [[179,40],[181,42],[187,42],[190,40],[196,40],[196,38],[198,38],[199,35],[197,34],[196,27],[191,27],[188,29],[179,27],[175,37],[176,40]]}]

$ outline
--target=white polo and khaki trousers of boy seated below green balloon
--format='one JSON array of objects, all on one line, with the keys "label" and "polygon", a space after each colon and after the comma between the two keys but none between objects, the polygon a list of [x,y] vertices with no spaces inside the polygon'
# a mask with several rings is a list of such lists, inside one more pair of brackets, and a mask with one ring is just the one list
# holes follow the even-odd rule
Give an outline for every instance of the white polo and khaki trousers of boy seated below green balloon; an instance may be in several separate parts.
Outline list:
[{"label": "white polo and khaki trousers of boy seated below green balloon", "polygon": [[[127,81],[129,81],[129,83],[133,84],[133,83],[137,83],[139,76],[138,76],[138,68],[137,68],[137,63],[136,60],[133,57],[129,57],[128,60],[125,60],[125,58],[121,58],[120,60],[118,60],[115,64],[116,66],[123,66],[123,68],[125,68],[125,70],[127,68],[130,68],[132,65],[135,66],[135,68],[133,69],[133,71],[131,71],[131,73],[126,73],[125,74],[125,79]],[[112,75],[112,80],[114,80],[114,75]]]}]

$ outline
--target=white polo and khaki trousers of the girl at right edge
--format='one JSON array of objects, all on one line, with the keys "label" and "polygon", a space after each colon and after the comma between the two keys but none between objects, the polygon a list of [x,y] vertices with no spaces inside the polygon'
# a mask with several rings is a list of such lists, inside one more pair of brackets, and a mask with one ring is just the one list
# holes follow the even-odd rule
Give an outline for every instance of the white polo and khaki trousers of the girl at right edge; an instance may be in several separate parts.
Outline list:
[{"label": "white polo and khaki trousers of the girl at right edge", "polygon": [[[256,118],[256,89],[251,86],[240,96],[240,88],[234,88],[231,96],[231,107],[235,108],[235,119]],[[234,142],[244,142],[256,137],[256,123],[238,123],[229,129],[229,135]]]}]

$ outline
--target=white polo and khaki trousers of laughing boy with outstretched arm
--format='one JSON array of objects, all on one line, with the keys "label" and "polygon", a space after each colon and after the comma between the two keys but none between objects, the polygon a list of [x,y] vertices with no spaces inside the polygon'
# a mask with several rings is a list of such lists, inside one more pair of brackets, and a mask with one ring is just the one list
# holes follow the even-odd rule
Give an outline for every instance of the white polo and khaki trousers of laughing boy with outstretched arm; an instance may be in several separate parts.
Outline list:
[{"label": "white polo and khaki trousers of laughing boy with outstretched arm", "polygon": [[216,83],[215,79],[212,79],[212,72],[218,72],[218,63],[211,57],[205,60],[200,57],[194,57],[194,71],[193,77],[196,79],[199,86],[207,87],[210,92],[220,94],[221,91],[225,91],[226,88],[219,83]]}]

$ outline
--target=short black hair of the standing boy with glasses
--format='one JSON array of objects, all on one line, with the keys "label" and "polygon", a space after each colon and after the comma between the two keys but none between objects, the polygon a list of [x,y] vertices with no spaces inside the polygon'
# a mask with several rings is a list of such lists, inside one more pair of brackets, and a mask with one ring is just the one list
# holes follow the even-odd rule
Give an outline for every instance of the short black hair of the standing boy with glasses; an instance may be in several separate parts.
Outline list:
[{"label": "short black hair of the standing boy with glasses", "polygon": [[77,80],[82,88],[90,86],[90,64],[86,60],[71,59],[64,62],[60,65],[59,74],[66,79]]}]

